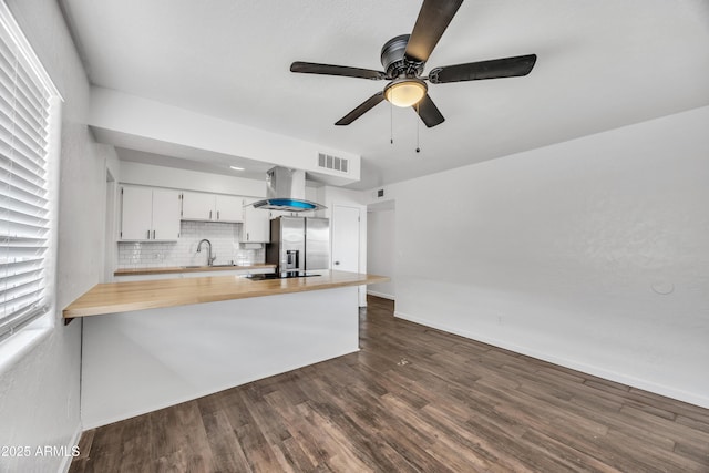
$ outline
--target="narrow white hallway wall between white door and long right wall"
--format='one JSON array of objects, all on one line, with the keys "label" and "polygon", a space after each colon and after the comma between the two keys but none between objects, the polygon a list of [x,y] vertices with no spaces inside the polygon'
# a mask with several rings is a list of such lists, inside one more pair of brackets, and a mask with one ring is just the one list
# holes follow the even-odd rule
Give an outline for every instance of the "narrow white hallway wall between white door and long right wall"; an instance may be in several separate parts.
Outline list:
[{"label": "narrow white hallway wall between white door and long right wall", "polygon": [[367,294],[395,299],[395,210],[367,213],[367,273],[388,276],[391,280],[367,286]]}]

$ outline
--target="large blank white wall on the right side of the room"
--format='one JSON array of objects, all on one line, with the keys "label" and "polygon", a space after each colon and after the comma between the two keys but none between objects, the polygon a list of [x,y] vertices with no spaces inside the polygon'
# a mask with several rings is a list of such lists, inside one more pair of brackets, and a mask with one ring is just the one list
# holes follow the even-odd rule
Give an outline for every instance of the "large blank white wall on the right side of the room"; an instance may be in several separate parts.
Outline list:
[{"label": "large blank white wall on the right side of the room", "polygon": [[702,107],[389,186],[397,315],[709,408],[707,131]]}]

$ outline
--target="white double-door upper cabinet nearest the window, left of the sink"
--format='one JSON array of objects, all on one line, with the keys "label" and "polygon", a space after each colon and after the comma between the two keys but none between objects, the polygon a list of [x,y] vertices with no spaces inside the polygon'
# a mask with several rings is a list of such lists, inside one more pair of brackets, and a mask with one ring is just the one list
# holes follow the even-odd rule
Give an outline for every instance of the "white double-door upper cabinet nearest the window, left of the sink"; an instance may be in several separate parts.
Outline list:
[{"label": "white double-door upper cabinet nearest the window, left of the sink", "polygon": [[123,187],[122,240],[176,240],[179,237],[179,193],[150,187]]}]

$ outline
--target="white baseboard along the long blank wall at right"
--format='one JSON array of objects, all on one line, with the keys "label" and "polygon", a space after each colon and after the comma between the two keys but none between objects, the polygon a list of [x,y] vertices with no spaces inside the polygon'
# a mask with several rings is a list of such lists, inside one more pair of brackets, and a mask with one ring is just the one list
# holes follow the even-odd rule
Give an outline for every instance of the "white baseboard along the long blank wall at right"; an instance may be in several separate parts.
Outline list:
[{"label": "white baseboard along the long blank wall at right", "polygon": [[487,343],[493,347],[502,348],[504,350],[514,351],[515,353],[536,358],[537,360],[547,361],[549,363],[554,363],[559,367],[569,368],[572,370],[580,371],[586,374],[603,378],[608,381],[618,382],[620,384],[626,384],[633,388],[641,389],[644,391],[649,391],[659,395],[665,395],[667,398],[671,398],[681,402],[687,402],[689,404],[698,405],[700,408],[709,409],[709,395],[701,395],[693,392],[682,391],[672,387],[668,387],[666,384],[659,384],[657,382],[649,381],[646,379],[635,378],[626,373],[612,371],[603,367],[587,364],[578,360],[571,360],[571,359],[557,357],[553,353],[540,351],[530,347],[524,347],[516,343],[510,343],[505,340],[500,340],[500,339],[490,338],[490,337],[481,337],[479,333],[471,333],[469,331],[459,330],[452,327],[446,327],[444,325],[432,323],[428,319],[412,317],[408,313],[404,313],[398,310],[394,311],[394,317],[399,317],[400,319],[419,323],[421,326],[442,330],[444,332],[458,335],[471,340],[480,341],[482,343]]}]

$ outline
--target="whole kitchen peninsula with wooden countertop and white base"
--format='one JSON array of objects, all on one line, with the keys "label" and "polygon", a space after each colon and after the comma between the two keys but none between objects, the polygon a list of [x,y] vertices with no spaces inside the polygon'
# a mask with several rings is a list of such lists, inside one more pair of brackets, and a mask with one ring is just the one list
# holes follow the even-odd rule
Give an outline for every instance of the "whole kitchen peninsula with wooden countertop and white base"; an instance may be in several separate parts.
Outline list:
[{"label": "whole kitchen peninsula with wooden countertop and white base", "polygon": [[386,280],[325,271],[96,285],[64,309],[83,323],[84,429],[357,351],[358,286]]}]

